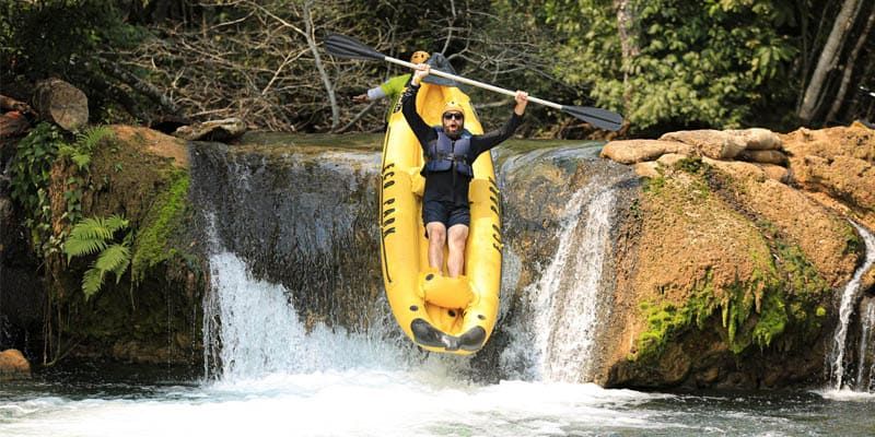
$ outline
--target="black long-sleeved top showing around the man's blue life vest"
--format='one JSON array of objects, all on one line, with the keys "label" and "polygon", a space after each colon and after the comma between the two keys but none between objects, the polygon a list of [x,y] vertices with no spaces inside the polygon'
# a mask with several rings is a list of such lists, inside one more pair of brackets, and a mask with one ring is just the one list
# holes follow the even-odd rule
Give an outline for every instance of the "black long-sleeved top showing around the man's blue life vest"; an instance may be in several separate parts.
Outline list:
[{"label": "black long-sleeved top showing around the man's blue life vest", "polygon": [[[438,131],[425,123],[417,113],[417,93],[419,86],[412,84],[407,87],[401,96],[401,113],[410,129],[419,139],[423,151],[428,151],[429,144],[438,141]],[[513,132],[520,127],[523,117],[511,113],[511,118],[501,129],[497,129],[482,135],[470,138],[470,156],[476,158],[481,153],[494,147],[502,141],[511,138]],[[439,201],[452,203],[453,206],[468,206],[468,185],[470,178],[450,169],[447,172],[434,172],[425,175],[425,193],[422,201]]]}]

